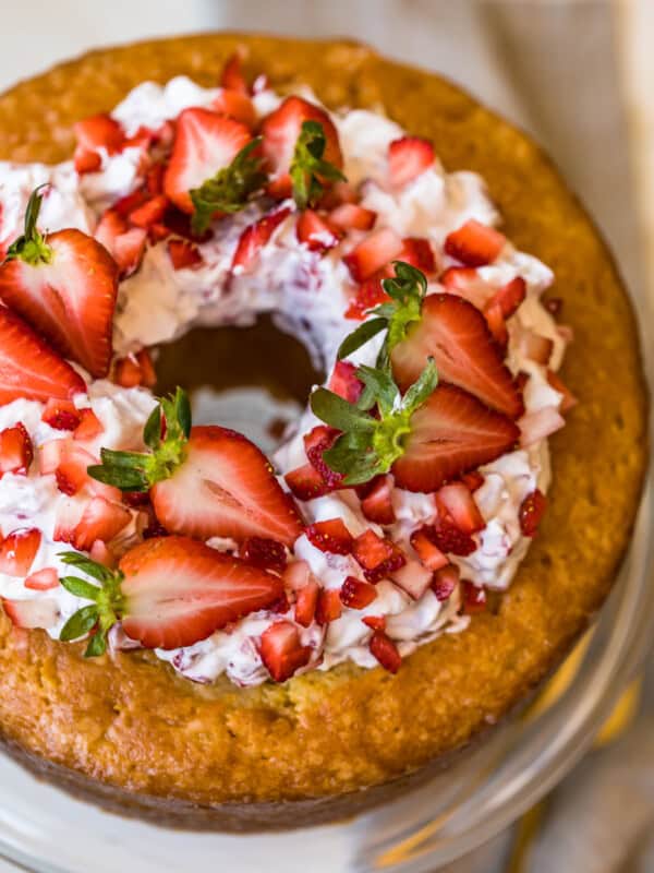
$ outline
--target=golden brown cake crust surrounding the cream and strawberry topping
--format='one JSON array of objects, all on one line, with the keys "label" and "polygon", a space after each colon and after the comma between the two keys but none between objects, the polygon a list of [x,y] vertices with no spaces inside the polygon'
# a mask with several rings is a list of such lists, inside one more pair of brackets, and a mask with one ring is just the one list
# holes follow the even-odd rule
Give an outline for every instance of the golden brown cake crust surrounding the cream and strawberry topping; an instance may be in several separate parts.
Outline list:
[{"label": "golden brown cake crust surrounding the cream and strawberry topping", "polygon": [[[384,106],[432,137],[447,169],[484,176],[507,235],[555,271],[550,294],[565,300],[576,336],[564,379],[580,398],[552,440],[549,510],[510,590],[464,633],[420,647],[395,677],[341,666],[284,685],[204,687],[147,655],[84,661],[78,647],[14,630],[0,615],[0,730],[33,764],[48,773],[53,764],[66,785],[72,778],[92,794],[99,780],[113,804],[131,797],[144,812],[159,800],[184,824],[231,826],[232,810],[237,826],[292,826],[295,812],[279,801],[307,801],[300,808],[310,820],[349,809],[330,799],[451,753],[558,662],[605,598],[628,543],[647,402],[611,258],[547,158],[459,88],[366,47],[232,34],[92,52],[0,97],[0,158],[66,158],[75,120],[111,109],[146,79],[185,73],[211,85],[242,45],[247,67],[274,85],[304,82],[331,107]],[[237,805],[207,810],[226,802]]]}]

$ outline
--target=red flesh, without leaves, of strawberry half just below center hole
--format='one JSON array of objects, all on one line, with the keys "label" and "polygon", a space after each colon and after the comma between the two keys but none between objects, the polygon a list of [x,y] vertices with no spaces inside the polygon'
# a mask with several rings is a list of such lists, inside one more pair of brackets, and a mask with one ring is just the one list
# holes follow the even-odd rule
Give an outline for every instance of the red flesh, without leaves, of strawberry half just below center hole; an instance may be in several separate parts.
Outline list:
[{"label": "red flesh, without leaves, of strawberry half just below center hole", "polygon": [[281,490],[266,456],[240,433],[196,427],[185,459],[152,489],[159,522],[173,534],[266,537],[292,546],[302,533],[292,500]]}]

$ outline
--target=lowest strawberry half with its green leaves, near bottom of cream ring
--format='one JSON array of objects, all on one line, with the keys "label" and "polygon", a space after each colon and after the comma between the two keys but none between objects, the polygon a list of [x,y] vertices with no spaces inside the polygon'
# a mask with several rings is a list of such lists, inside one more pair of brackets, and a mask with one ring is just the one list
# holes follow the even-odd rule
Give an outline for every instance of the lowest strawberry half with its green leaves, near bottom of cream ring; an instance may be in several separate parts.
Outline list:
[{"label": "lowest strawberry half with its green leaves, near bottom of cream ring", "polygon": [[75,552],[62,560],[100,583],[61,579],[71,594],[92,601],[60,637],[78,639],[93,631],[87,656],[105,651],[107,631],[118,621],[145,648],[173,649],[206,639],[283,594],[279,576],[187,537],[148,539],[123,555],[118,571]]}]

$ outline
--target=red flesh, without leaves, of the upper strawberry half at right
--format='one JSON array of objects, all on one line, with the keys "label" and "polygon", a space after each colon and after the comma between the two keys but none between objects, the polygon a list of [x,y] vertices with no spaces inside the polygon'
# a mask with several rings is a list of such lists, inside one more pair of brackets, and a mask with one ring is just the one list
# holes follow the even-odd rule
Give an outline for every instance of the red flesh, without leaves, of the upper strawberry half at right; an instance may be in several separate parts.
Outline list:
[{"label": "red flesh, without leaves, of the upper strawberry half at right", "polygon": [[472,303],[450,294],[428,295],[422,319],[392,350],[393,374],[402,390],[419,378],[428,357],[439,378],[465,388],[488,406],[517,418],[520,393],[502,362],[484,316]]}]

